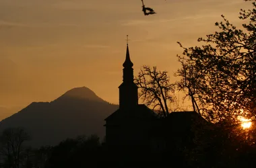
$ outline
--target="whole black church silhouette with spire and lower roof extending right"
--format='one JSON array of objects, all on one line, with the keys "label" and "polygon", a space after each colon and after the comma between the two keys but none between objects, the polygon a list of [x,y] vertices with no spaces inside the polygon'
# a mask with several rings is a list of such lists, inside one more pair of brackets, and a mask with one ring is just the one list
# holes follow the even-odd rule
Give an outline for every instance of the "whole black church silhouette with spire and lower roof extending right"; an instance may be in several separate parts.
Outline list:
[{"label": "whole black church silhouette with spire and lower roof extending right", "polygon": [[[123,62],[123,83],[119,86],[119,109],[106,119],[106,145],[115,153],[133,155],[162,153],[177,148],[190,148],[194,128],[208,124],[196,112],[172,112],[167,118],[138,103],[138,87],[133,82],[133,62],[127,44]],[[128,152],[129,151],[129,152]]]}]

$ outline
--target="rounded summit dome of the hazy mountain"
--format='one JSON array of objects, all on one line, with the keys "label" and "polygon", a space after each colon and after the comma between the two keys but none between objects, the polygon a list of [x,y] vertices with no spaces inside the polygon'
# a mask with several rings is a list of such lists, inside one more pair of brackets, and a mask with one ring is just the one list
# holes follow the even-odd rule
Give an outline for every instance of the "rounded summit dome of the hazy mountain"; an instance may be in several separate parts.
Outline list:
[{"label": "rounded summit dome of the hazy mountain", "polygon": [[85,99],[85,100],[92,100],[92,101],[104,101],[100,97],[94,93],[91,89],[88,87],[75,87],[73,89],[70,89],[61,97],[58,99],[69,99],[69,98],[75,98],[75,99]]}]

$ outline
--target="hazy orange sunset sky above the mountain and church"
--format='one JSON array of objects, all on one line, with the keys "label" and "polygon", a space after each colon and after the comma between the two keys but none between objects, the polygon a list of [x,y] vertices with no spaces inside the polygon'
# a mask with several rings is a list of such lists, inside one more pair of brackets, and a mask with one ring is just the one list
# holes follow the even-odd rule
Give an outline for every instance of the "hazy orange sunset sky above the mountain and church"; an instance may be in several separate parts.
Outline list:
[{"label": "hazy orange sunset sky above the mountain and church", "polygon": [[118,103],[127,34],[135,75],[141,65],[172,75],[177,41],[195,45],[221,14],[239,26],[239,9],[251,7],[243,0],[144,3],[157,14],[144,16],[141,0],[0,0],[0,112],[82,86]]}]

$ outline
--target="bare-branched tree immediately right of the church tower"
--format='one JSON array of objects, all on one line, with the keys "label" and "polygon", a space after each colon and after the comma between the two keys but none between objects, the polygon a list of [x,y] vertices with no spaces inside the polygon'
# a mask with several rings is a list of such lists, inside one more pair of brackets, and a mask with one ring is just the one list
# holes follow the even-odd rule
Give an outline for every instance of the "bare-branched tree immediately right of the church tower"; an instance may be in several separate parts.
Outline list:
[{"label": "bare-branched tree immediately right of the church tower", "polygon": [[144,65],[135,77],[135,83],[139,87],[139,97],[148,106],[153,106],[153,110],[160,110],[160,116],[166,117],[174,109],[171,103],[176,101],[174,97],[174,84],[170,83],[166,71],[158,71],[156,67]]}]

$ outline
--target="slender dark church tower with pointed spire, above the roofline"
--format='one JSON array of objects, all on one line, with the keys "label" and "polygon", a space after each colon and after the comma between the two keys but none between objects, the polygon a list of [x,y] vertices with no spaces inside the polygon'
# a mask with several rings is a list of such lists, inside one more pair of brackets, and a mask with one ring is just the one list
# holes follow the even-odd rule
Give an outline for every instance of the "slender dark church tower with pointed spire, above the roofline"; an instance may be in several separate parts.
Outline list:
[{"label": "slender dark church tower with pointed spire, above the roofline", "polygon": [[125,62],[123,62],[123,83],[119,86],[119,108],[132,109],[138,104],[138,87],[133,81],[133,62],[127,43]]}]

